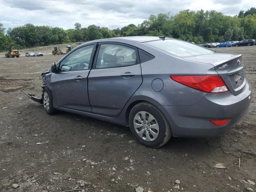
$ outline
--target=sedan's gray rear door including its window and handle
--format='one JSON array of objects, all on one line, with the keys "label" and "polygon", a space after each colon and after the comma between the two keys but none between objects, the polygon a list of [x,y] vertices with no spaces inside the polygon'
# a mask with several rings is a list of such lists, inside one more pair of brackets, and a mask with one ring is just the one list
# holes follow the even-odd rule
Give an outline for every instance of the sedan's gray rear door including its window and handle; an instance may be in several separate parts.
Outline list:
[{"label": "sedan's gray rear door including its window and handle", "polygon": [[120,43],[100,43],[88,76],[92,112],[117,117],[142,84],[138,50]]}]

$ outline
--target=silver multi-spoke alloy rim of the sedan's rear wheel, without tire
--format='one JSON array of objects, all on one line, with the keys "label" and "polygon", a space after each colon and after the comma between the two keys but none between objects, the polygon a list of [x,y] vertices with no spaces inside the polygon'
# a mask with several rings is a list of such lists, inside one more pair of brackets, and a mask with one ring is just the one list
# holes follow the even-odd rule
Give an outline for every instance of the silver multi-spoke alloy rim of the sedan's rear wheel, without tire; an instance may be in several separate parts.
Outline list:
[{"label": "silver multi-spoke alloy rim of the sedan's rear wheel, without tire", "polygon": [[159,125],[154,116],[146,111],[140,111],[134,116],[134,129],[145,141],[154,141],[159,135]]}]

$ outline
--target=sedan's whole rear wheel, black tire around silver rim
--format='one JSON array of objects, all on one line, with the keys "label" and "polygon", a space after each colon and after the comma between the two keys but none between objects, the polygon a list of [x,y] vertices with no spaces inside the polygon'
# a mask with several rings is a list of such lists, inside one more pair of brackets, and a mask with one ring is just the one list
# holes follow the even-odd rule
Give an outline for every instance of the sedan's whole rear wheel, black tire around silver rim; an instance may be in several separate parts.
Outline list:
[{"label": "sedan's whole rear wheel, black tire around silver rim", "polygon": [[[149,118],[151,121],[147,122]],[[148,102],[141,102],[132,108],[129,115],[129,125],[136,140],[146,147],[161,147],[166,144],[172,136],[170,125],[164,114]],[[134,125],[138,126],[135,128]],[[155,128],[158,126],[158,130],[154,129],[153,125],[155,125]],[[137,132],[142,133],[140,134],[141,136]],[[154,132],[154,136],[151,134],[152,132]]]}]

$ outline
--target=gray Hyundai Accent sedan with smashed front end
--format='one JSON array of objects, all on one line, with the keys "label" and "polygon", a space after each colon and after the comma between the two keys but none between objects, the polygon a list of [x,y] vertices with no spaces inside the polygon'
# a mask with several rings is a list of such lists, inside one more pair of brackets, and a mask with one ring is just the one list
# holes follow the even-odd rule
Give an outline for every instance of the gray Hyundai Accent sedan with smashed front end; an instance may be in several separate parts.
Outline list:
[{"label": "gray Hyundai Accent sedan with smashed front end", "polygon": [[41,102],[57,110],[130,126],[145,146],[174,137],[220,136],[249,109],[241,55],[161,37],[86,42],[42,74]]}]

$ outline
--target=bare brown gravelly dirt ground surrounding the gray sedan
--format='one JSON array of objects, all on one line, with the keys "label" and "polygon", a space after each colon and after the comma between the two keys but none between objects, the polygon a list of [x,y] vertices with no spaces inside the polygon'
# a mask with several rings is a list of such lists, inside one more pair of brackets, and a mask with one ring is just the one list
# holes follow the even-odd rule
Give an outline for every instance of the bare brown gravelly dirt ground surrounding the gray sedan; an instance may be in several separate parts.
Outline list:
[{"label": "bare brown gravelly dirt ground surrounding the gray sedan", "polygon": [[158,149],[142,146],[123,126],[47,115],[20,92],[40,95],[41,72],[62,56],[0,58],[0,192],[256,191],[247,182],[256,182],[256,46],[215,50],[243,54],[254,90],[250,111],[220,138],[171,138]]}]

